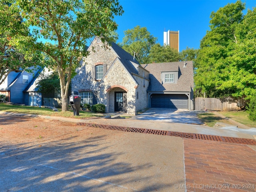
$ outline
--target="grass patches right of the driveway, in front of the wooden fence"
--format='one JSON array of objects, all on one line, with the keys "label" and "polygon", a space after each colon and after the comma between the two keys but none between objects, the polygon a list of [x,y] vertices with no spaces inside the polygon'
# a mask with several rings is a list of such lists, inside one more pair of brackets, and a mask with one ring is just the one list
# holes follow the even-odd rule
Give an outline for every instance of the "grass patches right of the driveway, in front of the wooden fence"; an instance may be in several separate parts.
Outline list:
[{"label": "grass patches right of the driveway, in front of the wooden fence", "polygon": [[[248,118],[248,113],[246,111],[219,111],[218,113],[237,122],[240,122],[248,127],[256,127],[256,122],[253,122]],[[210,127],[213,127],[216,122],[231,124],[228,120],[226,120],[225,118],[221,118],[214,112],[198,114],[198,118]]]}]

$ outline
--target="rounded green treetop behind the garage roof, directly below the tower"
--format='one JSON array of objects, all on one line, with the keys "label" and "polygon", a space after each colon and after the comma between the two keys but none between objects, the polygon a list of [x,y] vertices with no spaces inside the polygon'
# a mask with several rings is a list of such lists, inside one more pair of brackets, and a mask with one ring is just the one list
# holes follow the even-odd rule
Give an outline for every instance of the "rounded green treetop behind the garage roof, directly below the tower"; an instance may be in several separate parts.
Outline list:
[{"label": "rounded green treetop behind the garage roof, directly below the tower", "polygon": [[179,61],[179,52],[170,46],[152,45],[148,55],[148,63]]}]

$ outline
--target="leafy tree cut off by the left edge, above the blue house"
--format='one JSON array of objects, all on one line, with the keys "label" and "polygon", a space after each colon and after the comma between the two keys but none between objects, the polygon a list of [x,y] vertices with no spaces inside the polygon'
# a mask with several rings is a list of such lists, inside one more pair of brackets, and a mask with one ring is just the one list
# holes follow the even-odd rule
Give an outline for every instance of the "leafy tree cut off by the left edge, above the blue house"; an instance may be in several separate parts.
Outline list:
[{"label": "leafy tree cut off by the left edge, above the blue house", "polygon": [[10,1],[0,2],[0,84],[10,72],[27,69],[42,58],[23,44],[29,38],[29,30],[22,24],[18,8],[11,5]]}]

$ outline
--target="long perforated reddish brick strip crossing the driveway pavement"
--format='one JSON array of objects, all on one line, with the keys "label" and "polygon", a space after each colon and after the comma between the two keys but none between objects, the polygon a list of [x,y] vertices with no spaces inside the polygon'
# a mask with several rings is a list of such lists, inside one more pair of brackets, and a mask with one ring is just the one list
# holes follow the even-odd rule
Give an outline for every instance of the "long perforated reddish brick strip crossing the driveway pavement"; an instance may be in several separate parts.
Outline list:
[{"label": "long perforated reddish brick strip crossing the driveway pavement", "polygon": [[120,130],[120,131],[126,131],[126,132],[147,133],[147,134],[175,136],[175,137],[190,138],[190,139],[256,145],[256,140],[254,139],[224,137],[224,136],[216,136],[216,135],[184,133],[184,132],[164,131],[164,130],[154,130],[154,129],[143,129],[143,128],[132,128],[132,127],[121,127],[121,126],[101,125],[101,124],[92,124],[92,123],[78,123],[78,124],[82,126],[104,128],[104,129],[110,129],[110,130]]}]

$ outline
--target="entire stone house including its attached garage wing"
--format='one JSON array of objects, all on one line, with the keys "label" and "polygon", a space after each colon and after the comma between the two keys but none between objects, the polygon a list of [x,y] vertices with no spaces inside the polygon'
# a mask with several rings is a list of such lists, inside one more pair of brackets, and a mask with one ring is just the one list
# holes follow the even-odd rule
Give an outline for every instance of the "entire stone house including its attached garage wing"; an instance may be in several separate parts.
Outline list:
[{"label": "entire stone house including its attached garage wing", "polygon": [[133,115],[148,107],[193,110],[192,61],[140,65],[115,43],[103,48],[99,38],[88,50],[71,84],[82,104]]}]

